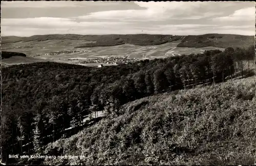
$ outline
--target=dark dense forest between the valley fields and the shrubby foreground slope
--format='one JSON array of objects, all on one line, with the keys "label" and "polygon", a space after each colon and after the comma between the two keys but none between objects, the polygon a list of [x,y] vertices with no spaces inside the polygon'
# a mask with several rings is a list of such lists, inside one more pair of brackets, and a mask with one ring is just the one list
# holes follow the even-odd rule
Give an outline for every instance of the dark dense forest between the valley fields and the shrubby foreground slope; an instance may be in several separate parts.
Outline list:
[{"label": "dark dense forest between the valley fields and the shrubby foreground slope", "polygon": [[52,62],[3,68],[2,162],[26,163],[8,155],[42,154],[49,143],[88,127],[83,118],[98,110],[115,118],[122,105],[143,97],[254,75],[254,54],[252,45],[103,68]]}]

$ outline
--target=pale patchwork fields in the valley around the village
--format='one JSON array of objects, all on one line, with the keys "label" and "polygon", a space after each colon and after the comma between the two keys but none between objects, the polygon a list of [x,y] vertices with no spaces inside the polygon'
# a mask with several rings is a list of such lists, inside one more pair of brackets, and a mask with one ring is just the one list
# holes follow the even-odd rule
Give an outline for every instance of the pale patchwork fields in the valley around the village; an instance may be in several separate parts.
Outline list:
[{"label": "pale patchwork fields in the valley around the village", "polygon": [[[201,53],[204,50],[220,49],[219,47],[202,47],[188,48],[177,47],[182,40],[167,42],[154,46],[139,46],[133,44],[121,44],[116,46],[104,47],[84,47],[75,48],[77,45],[94,43],[95,41],[85,40],[45,40],[45,41],[19,41],[15,43],[6,43],[2,45],[3,51],[22,52],[28,57],[37,58],[40,60],[51,60],[55,62],[78,64],[75,59],[97,59],[106,57],[126,57],[129,59],[155,59],[166,58],[170,56],[180,56],[181,54]],[[20,59],[10,59],[5,64],[22,63]],[[32,61],[32,59],[31,59]],[[84,65],[99,65],[99,64],[84,64]]]}]

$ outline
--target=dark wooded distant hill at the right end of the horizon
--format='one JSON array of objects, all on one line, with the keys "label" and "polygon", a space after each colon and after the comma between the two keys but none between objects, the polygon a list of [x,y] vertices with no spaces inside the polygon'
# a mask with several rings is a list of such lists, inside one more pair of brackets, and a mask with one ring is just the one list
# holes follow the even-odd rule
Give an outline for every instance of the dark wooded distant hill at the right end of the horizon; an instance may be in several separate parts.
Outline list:
[{"label": "dark wooded distant hill at the right end of the horizon", "polygon": [[178,47],[243,47],[254,45],[254,36],[230,35],[230,34],[205,34],[186,36]]}]

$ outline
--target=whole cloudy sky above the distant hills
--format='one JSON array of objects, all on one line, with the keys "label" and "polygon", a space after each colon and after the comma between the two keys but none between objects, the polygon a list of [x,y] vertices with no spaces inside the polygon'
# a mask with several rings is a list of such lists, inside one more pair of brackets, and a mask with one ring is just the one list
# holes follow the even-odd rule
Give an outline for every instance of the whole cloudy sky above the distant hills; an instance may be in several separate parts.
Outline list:
[{"label": "whole cloudy sky above the distant hills", "polygon": [[254,2],[2,1],[1,36],[255,35]]}]

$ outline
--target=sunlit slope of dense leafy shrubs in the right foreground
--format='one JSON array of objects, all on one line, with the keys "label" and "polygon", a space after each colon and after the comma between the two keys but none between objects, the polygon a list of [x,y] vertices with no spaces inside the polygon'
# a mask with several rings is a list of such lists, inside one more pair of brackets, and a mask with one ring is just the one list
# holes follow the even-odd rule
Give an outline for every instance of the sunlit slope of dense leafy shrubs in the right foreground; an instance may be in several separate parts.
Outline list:
[{"label": "sunlit slope of dense leafy shrubs in the right foreground", "polygon": [[44,164],[253,164],[254,87],[253,76],[127,103],[44,152],[86,158]]}]

